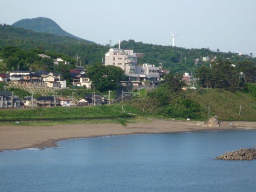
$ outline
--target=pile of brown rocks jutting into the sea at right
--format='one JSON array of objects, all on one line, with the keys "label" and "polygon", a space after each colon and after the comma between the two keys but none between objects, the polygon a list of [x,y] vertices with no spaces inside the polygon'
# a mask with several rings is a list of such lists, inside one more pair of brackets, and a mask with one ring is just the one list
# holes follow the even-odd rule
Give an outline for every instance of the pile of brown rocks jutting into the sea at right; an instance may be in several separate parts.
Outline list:
[{"label": "pile of brown rocks jutting into the sea at right", "polygon": [[223,160],[252,160],[256,159],[256,149],[255,148],[245,148],[236,151],[226,152],[215,159]]}]

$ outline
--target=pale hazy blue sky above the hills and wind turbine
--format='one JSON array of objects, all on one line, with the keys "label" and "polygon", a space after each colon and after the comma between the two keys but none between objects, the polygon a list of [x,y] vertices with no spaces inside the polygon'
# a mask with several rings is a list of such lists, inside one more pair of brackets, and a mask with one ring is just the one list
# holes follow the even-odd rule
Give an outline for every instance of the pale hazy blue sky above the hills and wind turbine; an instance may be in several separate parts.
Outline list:
[{"label": "pale hazy blue sky above the hills and wind turbine", "polygon": [[[1,0],[0,23],[47,17],[75,36],[256,54],[255,0]],[[122,45],[121,45],[122,48]],[[256,56],[256,55],[254,55]]]}]

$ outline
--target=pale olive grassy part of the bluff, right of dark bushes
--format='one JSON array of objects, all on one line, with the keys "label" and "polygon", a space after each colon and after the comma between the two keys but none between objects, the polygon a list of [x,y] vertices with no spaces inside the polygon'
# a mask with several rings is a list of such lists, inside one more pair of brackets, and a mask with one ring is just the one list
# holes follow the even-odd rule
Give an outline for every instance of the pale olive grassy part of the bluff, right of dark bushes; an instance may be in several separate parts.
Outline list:
[{"label": "pale olive grassy part of the bluff, right of dark bushes", "polygon": [[189,92],[187,96],[201,103],[207,112],[210,107],[210,113],[219,120],[256,121],[256,99],[251,93],[204,89],[203,92]]}]

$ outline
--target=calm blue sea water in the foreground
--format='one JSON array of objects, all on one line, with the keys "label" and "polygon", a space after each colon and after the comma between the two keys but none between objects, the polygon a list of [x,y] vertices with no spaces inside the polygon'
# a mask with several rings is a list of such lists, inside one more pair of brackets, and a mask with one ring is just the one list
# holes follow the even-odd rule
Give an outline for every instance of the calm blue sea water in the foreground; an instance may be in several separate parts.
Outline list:
[{"label": "calm blue sea water in the foreground", "polygon": [[73,139],[0,153],[1,192],[256,191],[256,160],[216,156],[256,145],[256,130]]}]

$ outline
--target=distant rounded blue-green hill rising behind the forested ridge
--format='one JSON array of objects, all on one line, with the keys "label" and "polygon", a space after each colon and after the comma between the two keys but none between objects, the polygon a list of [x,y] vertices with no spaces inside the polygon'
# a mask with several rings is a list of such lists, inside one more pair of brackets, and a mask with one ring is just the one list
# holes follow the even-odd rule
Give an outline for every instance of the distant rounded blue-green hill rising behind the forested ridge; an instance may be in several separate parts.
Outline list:
[{"label": "distant rounded blue-green hill rising behind the forested ridge", "polygon": [[[49,18],[45,18],[45,17],[22,19],[22,20],[15,22],[12,25],[15,27],[23,27],[24,29],[31,29],[32,31],[52,33],[52,34],[56,34],[56,35],[76,38],[78,40],[84,40],[82,38],[74,36],[73,34],[67,33],[58,24],[56,24],[56,22],[54,22],[53,20],[51,20]],[[88,43],[94,43],[89,40],[85,40],[85,41],[87,41]]]}]

